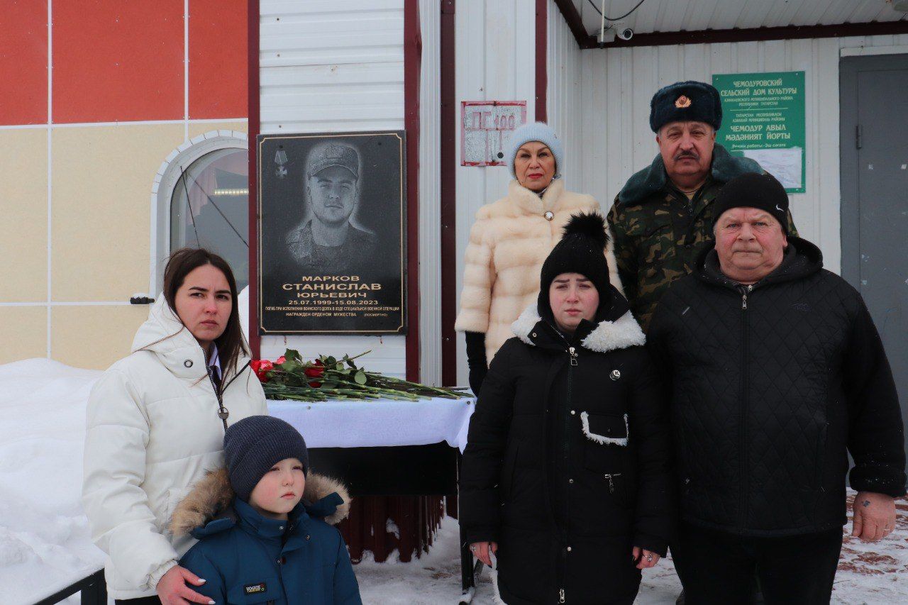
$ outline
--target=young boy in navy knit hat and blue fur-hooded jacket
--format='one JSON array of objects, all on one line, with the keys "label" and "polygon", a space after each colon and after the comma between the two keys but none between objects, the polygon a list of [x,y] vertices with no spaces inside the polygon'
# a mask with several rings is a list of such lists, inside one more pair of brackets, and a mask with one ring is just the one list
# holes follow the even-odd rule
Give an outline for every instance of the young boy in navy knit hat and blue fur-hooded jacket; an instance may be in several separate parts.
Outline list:
[{"label": "young boy in navy knit hat and blue fur-hooded jacket", "polygon": [[180,560],[205,580],[192,590],[217,605],[361,605],[347,545],[329,524],[349,514],[350,497],[308,472],[302,435],[250,416],[227,429],[224,457],[227,468],[208,473],[173,512],[171,531],[199,539]]}]

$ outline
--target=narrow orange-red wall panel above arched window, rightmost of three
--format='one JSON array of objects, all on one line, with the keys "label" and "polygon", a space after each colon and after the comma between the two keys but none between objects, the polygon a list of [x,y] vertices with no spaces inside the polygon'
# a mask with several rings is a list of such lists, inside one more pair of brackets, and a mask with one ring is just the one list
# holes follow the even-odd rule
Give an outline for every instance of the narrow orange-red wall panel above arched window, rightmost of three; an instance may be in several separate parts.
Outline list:
[{"label": "narrow orange-red wall panel above arched window, rightmost of three", "polygon": [[189,3],[189,117],[246,117],[248,113],[247,0]]}]

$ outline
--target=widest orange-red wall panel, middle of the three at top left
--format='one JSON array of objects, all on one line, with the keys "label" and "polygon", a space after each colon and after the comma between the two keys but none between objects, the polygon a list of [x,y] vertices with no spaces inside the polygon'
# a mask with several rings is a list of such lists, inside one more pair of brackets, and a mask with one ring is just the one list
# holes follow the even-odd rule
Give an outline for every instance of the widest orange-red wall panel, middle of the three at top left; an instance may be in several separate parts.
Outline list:
[{"label": "widest orange-red wall panel, middle of the three at top left", "polygon": [[54,122],[183,118],[183,0],[54,0]]}]

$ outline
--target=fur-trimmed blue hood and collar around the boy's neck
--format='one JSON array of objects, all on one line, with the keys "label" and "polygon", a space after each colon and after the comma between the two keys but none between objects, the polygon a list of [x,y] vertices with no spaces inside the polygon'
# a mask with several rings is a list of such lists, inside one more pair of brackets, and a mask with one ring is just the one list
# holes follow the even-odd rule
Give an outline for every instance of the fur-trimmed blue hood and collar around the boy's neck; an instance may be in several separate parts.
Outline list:
[{"label": "fur-trimmed blue hood and collar around the boy's neck", "polygon": [[[310,518],[336,525],[350,514],[350,494],[341,481],[310,472],[302,501],[288,514],[290,524],[305,527]],[[202,539],[240,524],[262,538],[280,537],[288,521],[263,517],[247,502],[236,499],[226,469],[209,471],[173,511],[173,535],[191,533]]]}]

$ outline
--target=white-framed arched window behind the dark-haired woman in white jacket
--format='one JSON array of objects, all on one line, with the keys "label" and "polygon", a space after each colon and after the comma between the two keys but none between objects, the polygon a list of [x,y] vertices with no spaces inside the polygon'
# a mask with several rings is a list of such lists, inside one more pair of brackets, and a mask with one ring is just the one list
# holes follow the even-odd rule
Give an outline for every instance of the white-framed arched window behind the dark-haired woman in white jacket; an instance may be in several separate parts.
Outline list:
[{"label": "white-framed arched window behind the dark-haired woman in white jacket", "polygon": [[[241,136],[237,136],[237,135]],[[249,283],[249,152],[245,135],[223,131],[183,145],[162,165],[156,192],[156,292],[166,257],[183,246],[220,254],[237,290]]]}]

